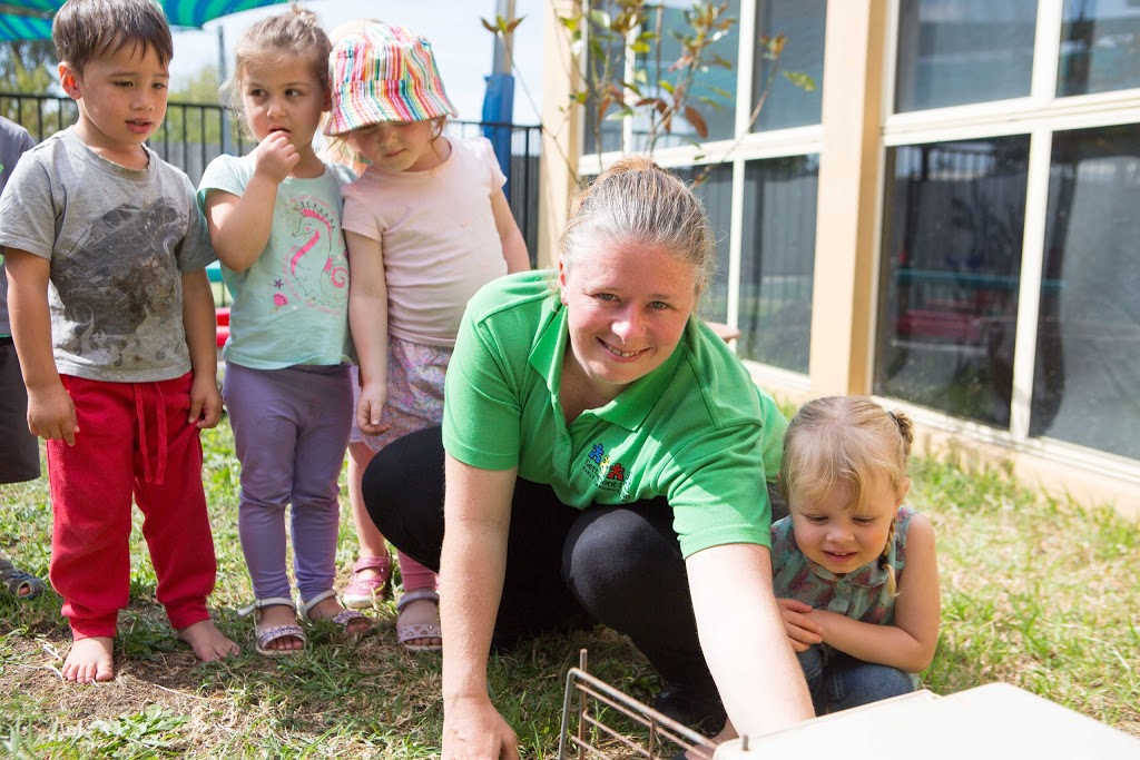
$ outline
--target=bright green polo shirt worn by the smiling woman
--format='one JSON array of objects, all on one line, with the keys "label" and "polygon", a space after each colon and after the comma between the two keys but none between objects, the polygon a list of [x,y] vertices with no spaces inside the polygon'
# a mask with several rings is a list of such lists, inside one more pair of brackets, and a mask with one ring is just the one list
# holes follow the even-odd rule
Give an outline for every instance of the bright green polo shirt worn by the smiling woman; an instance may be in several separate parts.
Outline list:
[{"label": "bright green polo shirt worn by the smiling woman", "polygon": [[567,309],[549,271],[484,286],[467,304],[448,365],[447,452],[547,483],[564,504],[665,497],[684,556],[722,544],[769,546],[765,474],[787,422],[700,320],[677,350],[613,401],[569,426],[559,401]]}]

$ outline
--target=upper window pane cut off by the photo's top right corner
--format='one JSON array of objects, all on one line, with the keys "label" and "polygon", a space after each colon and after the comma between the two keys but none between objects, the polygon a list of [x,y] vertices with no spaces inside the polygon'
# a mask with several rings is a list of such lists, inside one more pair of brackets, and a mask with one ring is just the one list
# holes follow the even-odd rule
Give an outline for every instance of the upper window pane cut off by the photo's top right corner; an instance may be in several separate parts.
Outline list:
[{"label": "upper window pane cut off by the photo's top right corner", "polygon": [[1140,3],[1065,0],[1057,95],[1140,87]]}]

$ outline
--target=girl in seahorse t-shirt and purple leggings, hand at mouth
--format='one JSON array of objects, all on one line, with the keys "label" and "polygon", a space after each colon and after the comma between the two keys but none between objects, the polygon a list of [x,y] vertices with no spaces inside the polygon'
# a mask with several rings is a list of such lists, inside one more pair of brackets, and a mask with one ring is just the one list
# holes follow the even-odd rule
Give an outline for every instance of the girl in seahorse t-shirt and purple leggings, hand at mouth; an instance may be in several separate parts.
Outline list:
[{"label": "girl in seahorse t-shirt and purple leggings, hand at mouth", "polygon": [[348,170],[312,138],[328,109],[328,38],[293,7],[245,33],[230,83],[258,147],[220,156],[198,189],[234,303],[222,394],[242,464],[238,529],[253,581],[256,649],[298,652],[304,632],[285,571],[292,502],[294,572],[306,616],[345,634],[370,624],[333,590],[337,476],[352,422],[349,271],[341,231]]}]

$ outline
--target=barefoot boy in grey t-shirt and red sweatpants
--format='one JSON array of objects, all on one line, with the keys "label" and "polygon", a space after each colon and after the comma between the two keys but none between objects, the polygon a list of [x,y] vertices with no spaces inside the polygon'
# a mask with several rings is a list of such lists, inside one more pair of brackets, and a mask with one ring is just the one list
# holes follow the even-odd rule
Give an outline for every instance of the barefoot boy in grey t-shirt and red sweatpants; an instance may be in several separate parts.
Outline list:
[{"label": "barefoot boy in grey t-shirt and red sweatpants", "polygon": [[63,676],[114,678],[131,496],[157,598],[199,659],[237,652],[206,612],[215,561],[198,430],[221,412],[213,260],[186,174],[144,142],[166,114],[173,43],[150,0],[68,0],[51,30],[79,121],[19,162],[0,246],[28,427],[47,439]]}]

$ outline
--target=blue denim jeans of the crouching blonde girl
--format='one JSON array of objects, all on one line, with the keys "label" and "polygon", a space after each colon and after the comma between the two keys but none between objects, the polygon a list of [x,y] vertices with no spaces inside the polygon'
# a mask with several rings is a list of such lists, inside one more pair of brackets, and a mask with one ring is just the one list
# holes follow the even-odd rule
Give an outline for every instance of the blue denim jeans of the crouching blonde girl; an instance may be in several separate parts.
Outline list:
[{"label": "blue denim jeans of the crouching blonde girl", "polygon": [[816,644],[797,656],[817,716],[914,690],[910,673],[890,665],[863,662],[831,647]]}]

